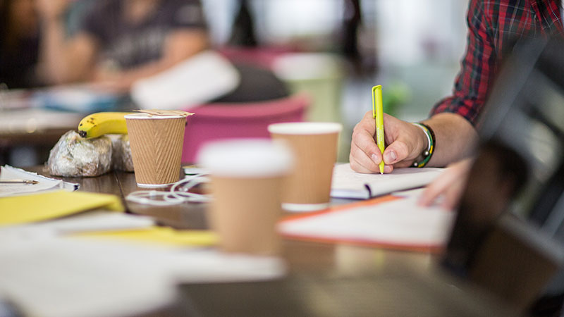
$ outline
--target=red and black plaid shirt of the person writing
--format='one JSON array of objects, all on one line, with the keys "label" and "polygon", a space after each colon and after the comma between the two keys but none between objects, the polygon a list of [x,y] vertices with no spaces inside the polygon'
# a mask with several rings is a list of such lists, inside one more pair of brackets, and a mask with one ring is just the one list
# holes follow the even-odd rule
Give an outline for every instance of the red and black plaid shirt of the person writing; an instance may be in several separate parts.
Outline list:
[{"label": "red and black plaid shirt of the person writing", "polygon": [[564,35],[560,0],[470,0],[467,47],[453,95],[434,106],[476,125],[501,57],[520,37]]}]

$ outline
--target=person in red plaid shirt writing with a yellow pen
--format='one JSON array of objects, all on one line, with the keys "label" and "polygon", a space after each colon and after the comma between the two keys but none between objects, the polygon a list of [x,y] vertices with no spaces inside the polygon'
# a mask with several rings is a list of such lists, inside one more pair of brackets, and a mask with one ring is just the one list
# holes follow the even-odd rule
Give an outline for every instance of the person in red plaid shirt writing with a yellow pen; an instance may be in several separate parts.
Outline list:
[{"label": "person in red plaid shirt writing with a yellow pen", "polygon": [[[439,101],[423,120],[434,131],[434,154],[427,166],[453,168],[427,187],[420,204],[428,205],[445,194],[443,206],[453,208],[465,184],[472,164],[476,125],[488,97],[503,55],[513,49],[515,40],[529,35],[564,34],[560,0],[470,0],[467,11],[467,48],[453,95]],[[429,146],[425,132],[403,120],[384,113],[386,150],[381,154],[375,143],[372,111],[355,126],[350,149],[350,166],[359,173],[378,173],[384,159],[384,173],[393,168],[420,162]]]}]

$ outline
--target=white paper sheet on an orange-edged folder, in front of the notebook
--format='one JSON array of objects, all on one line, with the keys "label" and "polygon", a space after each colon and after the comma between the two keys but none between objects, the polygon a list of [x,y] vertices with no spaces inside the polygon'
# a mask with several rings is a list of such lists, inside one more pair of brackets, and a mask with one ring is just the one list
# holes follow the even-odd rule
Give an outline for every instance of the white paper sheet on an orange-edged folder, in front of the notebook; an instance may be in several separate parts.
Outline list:
[{"label": "white paper sheet on an orange-edged folder, in front of the notebook", "polygon": [[406,198],[287,220],[278,230],[291,237],[433,248],[446,242],[453,218],[452,211]]}]

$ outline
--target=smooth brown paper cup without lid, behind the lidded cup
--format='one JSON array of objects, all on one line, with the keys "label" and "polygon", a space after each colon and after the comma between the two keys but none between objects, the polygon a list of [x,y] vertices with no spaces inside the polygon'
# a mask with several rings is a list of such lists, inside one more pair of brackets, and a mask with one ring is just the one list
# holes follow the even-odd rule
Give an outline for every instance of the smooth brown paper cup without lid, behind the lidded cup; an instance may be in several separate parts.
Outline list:
[{"label": "smooth brown paper cup without lid, behind the lidded cup", "polygon": [[275,123],[273,139],[293,150],[295,168],[286,180],[282,207],[287,211],[315,211],[329,206],[331,178],[337,160],[340,123]]}]

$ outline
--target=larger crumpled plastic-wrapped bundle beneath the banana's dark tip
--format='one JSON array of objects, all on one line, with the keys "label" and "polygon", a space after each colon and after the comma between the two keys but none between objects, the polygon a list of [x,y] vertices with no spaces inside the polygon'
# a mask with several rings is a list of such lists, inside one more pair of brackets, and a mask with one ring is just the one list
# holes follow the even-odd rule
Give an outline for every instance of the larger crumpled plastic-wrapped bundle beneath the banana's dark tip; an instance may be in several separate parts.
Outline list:
[{"label": "larger crumpled plastic-wrapped bundle beneath the banana's dark tip", "polygon": [[71,130],[51,149],[47,168],[56,176],[98,176],[111,169],[111,154],[109,137],[83,139]]}]

